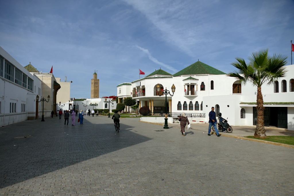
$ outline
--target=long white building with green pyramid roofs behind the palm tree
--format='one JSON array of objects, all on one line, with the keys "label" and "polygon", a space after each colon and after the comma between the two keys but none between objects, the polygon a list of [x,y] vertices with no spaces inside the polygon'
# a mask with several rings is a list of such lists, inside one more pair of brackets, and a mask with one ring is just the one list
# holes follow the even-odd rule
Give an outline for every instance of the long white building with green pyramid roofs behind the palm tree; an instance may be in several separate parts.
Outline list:
[{"label": "long white building with green pyramid roofs behind the palm tree", "polygon": [[[294,130],[294,65],[286,66],[286,69],[286,77],[277,80],[275,88],[274,85],[262,86],[265,126]],[[208,121],[208,113],[215,107],[217,113],[228,118],[230,125],[256,124],[256,88],[249,83],[241,86],[235,78],[200,61],[173,75],[159,69],[142,79],[120,84],[117,86],[118,97],[132,96],[139,100],[140,108],[148,106],[152,113],[160,113],[165,111],[165,96],[159,96],[161,93],[156,91],[156,86],[172,94],[173,84],[176,91],[173,96],[167,96],[167,111],[175,118],[184,111],[191,116],[191,123]],[[164,122],[164,117],[143,118],[144,121]],[[170,117],[168,121],[172,123],[175,119]]]}]

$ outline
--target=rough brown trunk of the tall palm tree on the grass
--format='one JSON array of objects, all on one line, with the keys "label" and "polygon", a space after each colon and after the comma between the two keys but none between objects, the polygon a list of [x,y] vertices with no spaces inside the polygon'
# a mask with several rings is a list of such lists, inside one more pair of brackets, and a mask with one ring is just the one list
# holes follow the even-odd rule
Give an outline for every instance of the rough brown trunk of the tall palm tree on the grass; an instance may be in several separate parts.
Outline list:
[{"label": "rough brown trunk of the tall palm tree on the grass", "polygon": [[254,133],[255,138],[266,138],[265,129],[264,129],[264,107],[263,107],[263,97],[261,93],[261,87],[257,87],[257,122],[256,122],[256,129]]}]

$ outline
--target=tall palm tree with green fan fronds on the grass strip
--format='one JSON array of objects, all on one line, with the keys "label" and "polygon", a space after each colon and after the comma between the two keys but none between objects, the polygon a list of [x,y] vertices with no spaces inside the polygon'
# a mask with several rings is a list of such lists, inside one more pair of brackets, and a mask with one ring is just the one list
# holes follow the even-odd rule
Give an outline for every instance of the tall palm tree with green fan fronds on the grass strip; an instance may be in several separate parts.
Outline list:
[{"label": "tall palm tree with green fan fronds on the grass strip", "polygon": [[284,77],[287,57],[281,54],[268,56],[268,49],[253,52],[248,57],[249,63],[245,63],[243,58],[237,57],[235,62],[231,63],[237,71],[228,73],[228,76],[235,77],[237,81],[245,85],[247,82],[257,87],[257,123],[254,133],[255,138],[266,138],[263,118],[263,97],[261,86],[267,82],[271,85],[280,77]]}]

